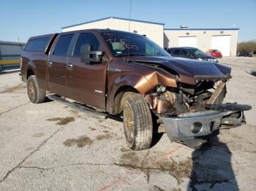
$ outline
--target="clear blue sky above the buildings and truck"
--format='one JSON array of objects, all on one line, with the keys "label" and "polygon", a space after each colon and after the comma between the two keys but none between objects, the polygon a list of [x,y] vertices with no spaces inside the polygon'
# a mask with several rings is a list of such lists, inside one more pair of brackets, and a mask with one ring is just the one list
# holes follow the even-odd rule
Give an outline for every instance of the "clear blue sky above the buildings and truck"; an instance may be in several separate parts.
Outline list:
[{"label": "clear blue sky above the buildings and truck", "polygon": [[[102,17],[129,18],[129,0],[1,0],[0,40],[29,36]],[[132,19],[165,23],[165,28],[240,28],[238,42],[256,39],[256,0],[132,1]]]}]

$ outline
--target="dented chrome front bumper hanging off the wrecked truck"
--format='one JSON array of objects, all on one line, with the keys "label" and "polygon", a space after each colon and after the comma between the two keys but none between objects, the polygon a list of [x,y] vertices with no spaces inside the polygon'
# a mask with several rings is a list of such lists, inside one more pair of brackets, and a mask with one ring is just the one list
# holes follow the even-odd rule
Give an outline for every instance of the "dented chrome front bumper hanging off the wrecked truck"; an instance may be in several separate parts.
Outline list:
[{"label": "dented chrome front bumper hanging off the wrecked truck", "polygon": [[[237,104],[228,104],[226,108],[236,108]],[[206,110],[203,112],[191,112],[179,115],[178,117],[162,117],[162,122],[167,136],[171,140],[197,139],[203,136],[211,135],[220,129],[222,124],[238,125],[245,122],[243,110],[249,110],[252,107],[246,106],[239,110],[224,109],[225,104],[218,109]],[[246,108],[246,109],[245,109]],[[232,114],[238,113],[238,117],[233,117]],[[234,123],[234,124],[233,124]],[[236,123],[236,124],[235,124]]]}]

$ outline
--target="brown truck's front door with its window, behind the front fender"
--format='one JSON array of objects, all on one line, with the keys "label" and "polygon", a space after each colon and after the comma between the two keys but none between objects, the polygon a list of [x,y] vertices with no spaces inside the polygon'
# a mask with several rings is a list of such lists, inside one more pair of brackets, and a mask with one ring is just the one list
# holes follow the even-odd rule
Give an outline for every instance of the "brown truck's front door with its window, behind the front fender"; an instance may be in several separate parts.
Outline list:
[{"label": "brown truck's front door with its window, behind the front fender", "polygon": [[[108,63],[82,63],[80,47],[91,44],[93,50],[101,50],[97,36],[93,33],[76,34],[72,54],[67,58],[67,88],[69,98],[105,110],[105,90]],[[104,60],[104,59],[103,59]]]}]

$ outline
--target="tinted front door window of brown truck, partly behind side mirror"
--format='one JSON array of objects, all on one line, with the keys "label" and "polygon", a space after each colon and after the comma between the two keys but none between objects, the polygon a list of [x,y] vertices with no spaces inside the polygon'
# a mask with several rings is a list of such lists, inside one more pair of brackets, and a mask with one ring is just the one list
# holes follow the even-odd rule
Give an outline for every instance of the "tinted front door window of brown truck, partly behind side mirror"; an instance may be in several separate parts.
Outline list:
[{"label": "tinted front door window of brown truck, partly behind side mirror", "polygon": [[75,49],[73,52],[73,57],[80,57],[80,48],[82,44],[91,44],[92,50],[99,50],[99,41],[94,34],[83,33],[78,36],[78,40],[75,43]]}]

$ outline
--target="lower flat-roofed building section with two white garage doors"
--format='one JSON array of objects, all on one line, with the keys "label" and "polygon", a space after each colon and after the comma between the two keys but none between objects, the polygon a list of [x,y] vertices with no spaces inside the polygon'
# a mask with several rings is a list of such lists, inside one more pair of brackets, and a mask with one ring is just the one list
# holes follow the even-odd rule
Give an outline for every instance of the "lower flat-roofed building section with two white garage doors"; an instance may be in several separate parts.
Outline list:
[{"label": "lower flat-roofed building section with two white garage doors", "polygon": [[239,28],[166,28],[165,47],[217,49],[223,56],[236,56]]}]

